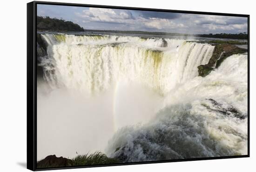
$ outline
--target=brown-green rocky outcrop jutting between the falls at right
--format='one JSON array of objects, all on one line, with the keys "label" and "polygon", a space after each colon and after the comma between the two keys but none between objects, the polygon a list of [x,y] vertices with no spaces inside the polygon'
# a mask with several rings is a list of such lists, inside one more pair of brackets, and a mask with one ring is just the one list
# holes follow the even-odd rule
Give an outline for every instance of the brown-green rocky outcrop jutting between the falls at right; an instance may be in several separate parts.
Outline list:
[{"label": "brown-green rocky outcrop jutting between the falls at right", "polygon": [[239,48],[235,45],[216,45],[208,64],[200,65],[197,67],[198,74],[202,77],[207,76],[211,70],[218,68],[227,57],[234,54],[243,54],[245,52],[247,52],[246,49]]}]

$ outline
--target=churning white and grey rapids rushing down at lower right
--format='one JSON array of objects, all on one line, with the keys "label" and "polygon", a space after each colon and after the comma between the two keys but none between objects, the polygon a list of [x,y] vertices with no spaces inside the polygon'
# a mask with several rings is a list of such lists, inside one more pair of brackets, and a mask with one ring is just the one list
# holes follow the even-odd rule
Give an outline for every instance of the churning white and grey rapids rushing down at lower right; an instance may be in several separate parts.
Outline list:
[{"label": "churning white and grey rapids rushing down at lower right", "polygon": [[[139,162],[247,154],[247,65],[247,54],[233,55],[205,78],[171,91],[150,122],[114,135],[108,156]],[[242,119],[223,113],[231,107]]]}]

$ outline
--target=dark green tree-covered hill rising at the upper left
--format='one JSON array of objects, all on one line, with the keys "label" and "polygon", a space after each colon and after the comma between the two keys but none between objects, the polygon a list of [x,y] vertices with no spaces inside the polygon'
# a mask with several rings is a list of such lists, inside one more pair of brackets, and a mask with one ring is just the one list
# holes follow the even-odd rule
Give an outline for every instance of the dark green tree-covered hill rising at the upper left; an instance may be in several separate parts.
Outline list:
[{"label": "dark green tree-covered hill rising at the upper left", "polygon": [[64,31],[64,32],[83,32],[84,29],[80,25],[72,21],[65,21],[63,19],[52,19],[50,17],[37,16],[37,30],[38,31]]}]

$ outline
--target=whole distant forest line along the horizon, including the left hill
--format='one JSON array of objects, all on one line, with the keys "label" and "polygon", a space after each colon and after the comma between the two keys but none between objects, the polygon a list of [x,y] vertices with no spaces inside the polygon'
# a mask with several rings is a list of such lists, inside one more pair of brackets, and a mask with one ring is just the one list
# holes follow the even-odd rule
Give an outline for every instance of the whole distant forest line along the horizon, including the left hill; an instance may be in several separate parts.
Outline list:
[{"label": "whole distant forest line along the horizon, including the left hill", "polygon": [[183,34],[183,33],[167,33],[167,32],[147,32],[147,31],[115,31],[115,30],[85,30],[78,24],[72,21],[65,21],[63,19],[52,19],[50,17],[37,16],[37,30],[38,31],[64,31],[64,32],[107,32],[107,33],[130,33],[130,34],[148,34],[148,35],[170,35],[183,37],[203,37],[203,38],[229,38],[229,39],[247,39],[248,34],[237,33],[217,33],[217,34]]}]

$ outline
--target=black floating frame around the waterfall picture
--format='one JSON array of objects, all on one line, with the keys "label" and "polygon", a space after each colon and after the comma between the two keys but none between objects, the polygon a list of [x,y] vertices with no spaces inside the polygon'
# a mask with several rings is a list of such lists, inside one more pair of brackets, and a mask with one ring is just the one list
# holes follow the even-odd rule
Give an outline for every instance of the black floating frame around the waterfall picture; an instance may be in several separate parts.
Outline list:
[{"label": "black floating frame around the waterfall picture", "polygon": [[[207,15],[221,15],[221,16],[236,16],[246,17],[248,19],[248,154],[237,156],[223,156],[223,157],[208,157],[208,158],[193,158],[193,159],[175,159],[175,160],[161,160],[161,161],[143,161],[130,162],[118,164],[105,164],[95,166],[68,166],[68,167],[54,167],[54,168],[37,168],[37,62],[36,62],[36,16],[37,5],[61,5],[61,6],[82,6],[82,7],[97,7],[97,8],[112,8],[112,9],[128,9],[141,11],[157,11],[157,12],[172,12],[172,13],[190,13],[190,14],[207,14]],[[103,6],[103,5],[88,5],[88,4],[74,4],[74,3],[60,3],[60,2],[45,2],[33,1],[27,3],[27,169],[32,171],[42,170],[58,170],[58,169],[72,169],[85,167],[99,167],[99,166],[124,166],[135,164],[150,164],[150,163],[164,163],[164,162],[178,162],[178,161],[195,161],[195,160],[209,160],[209,159],[230,159],[230,158],[246,158],[249,157],[249,15],[246,14],[232,14],[232,13],[209,13],[196,11],[181,11],[181,10],[167,10],[167,9],[152,9],[152,8],[138,8],[126,6]]]}]

